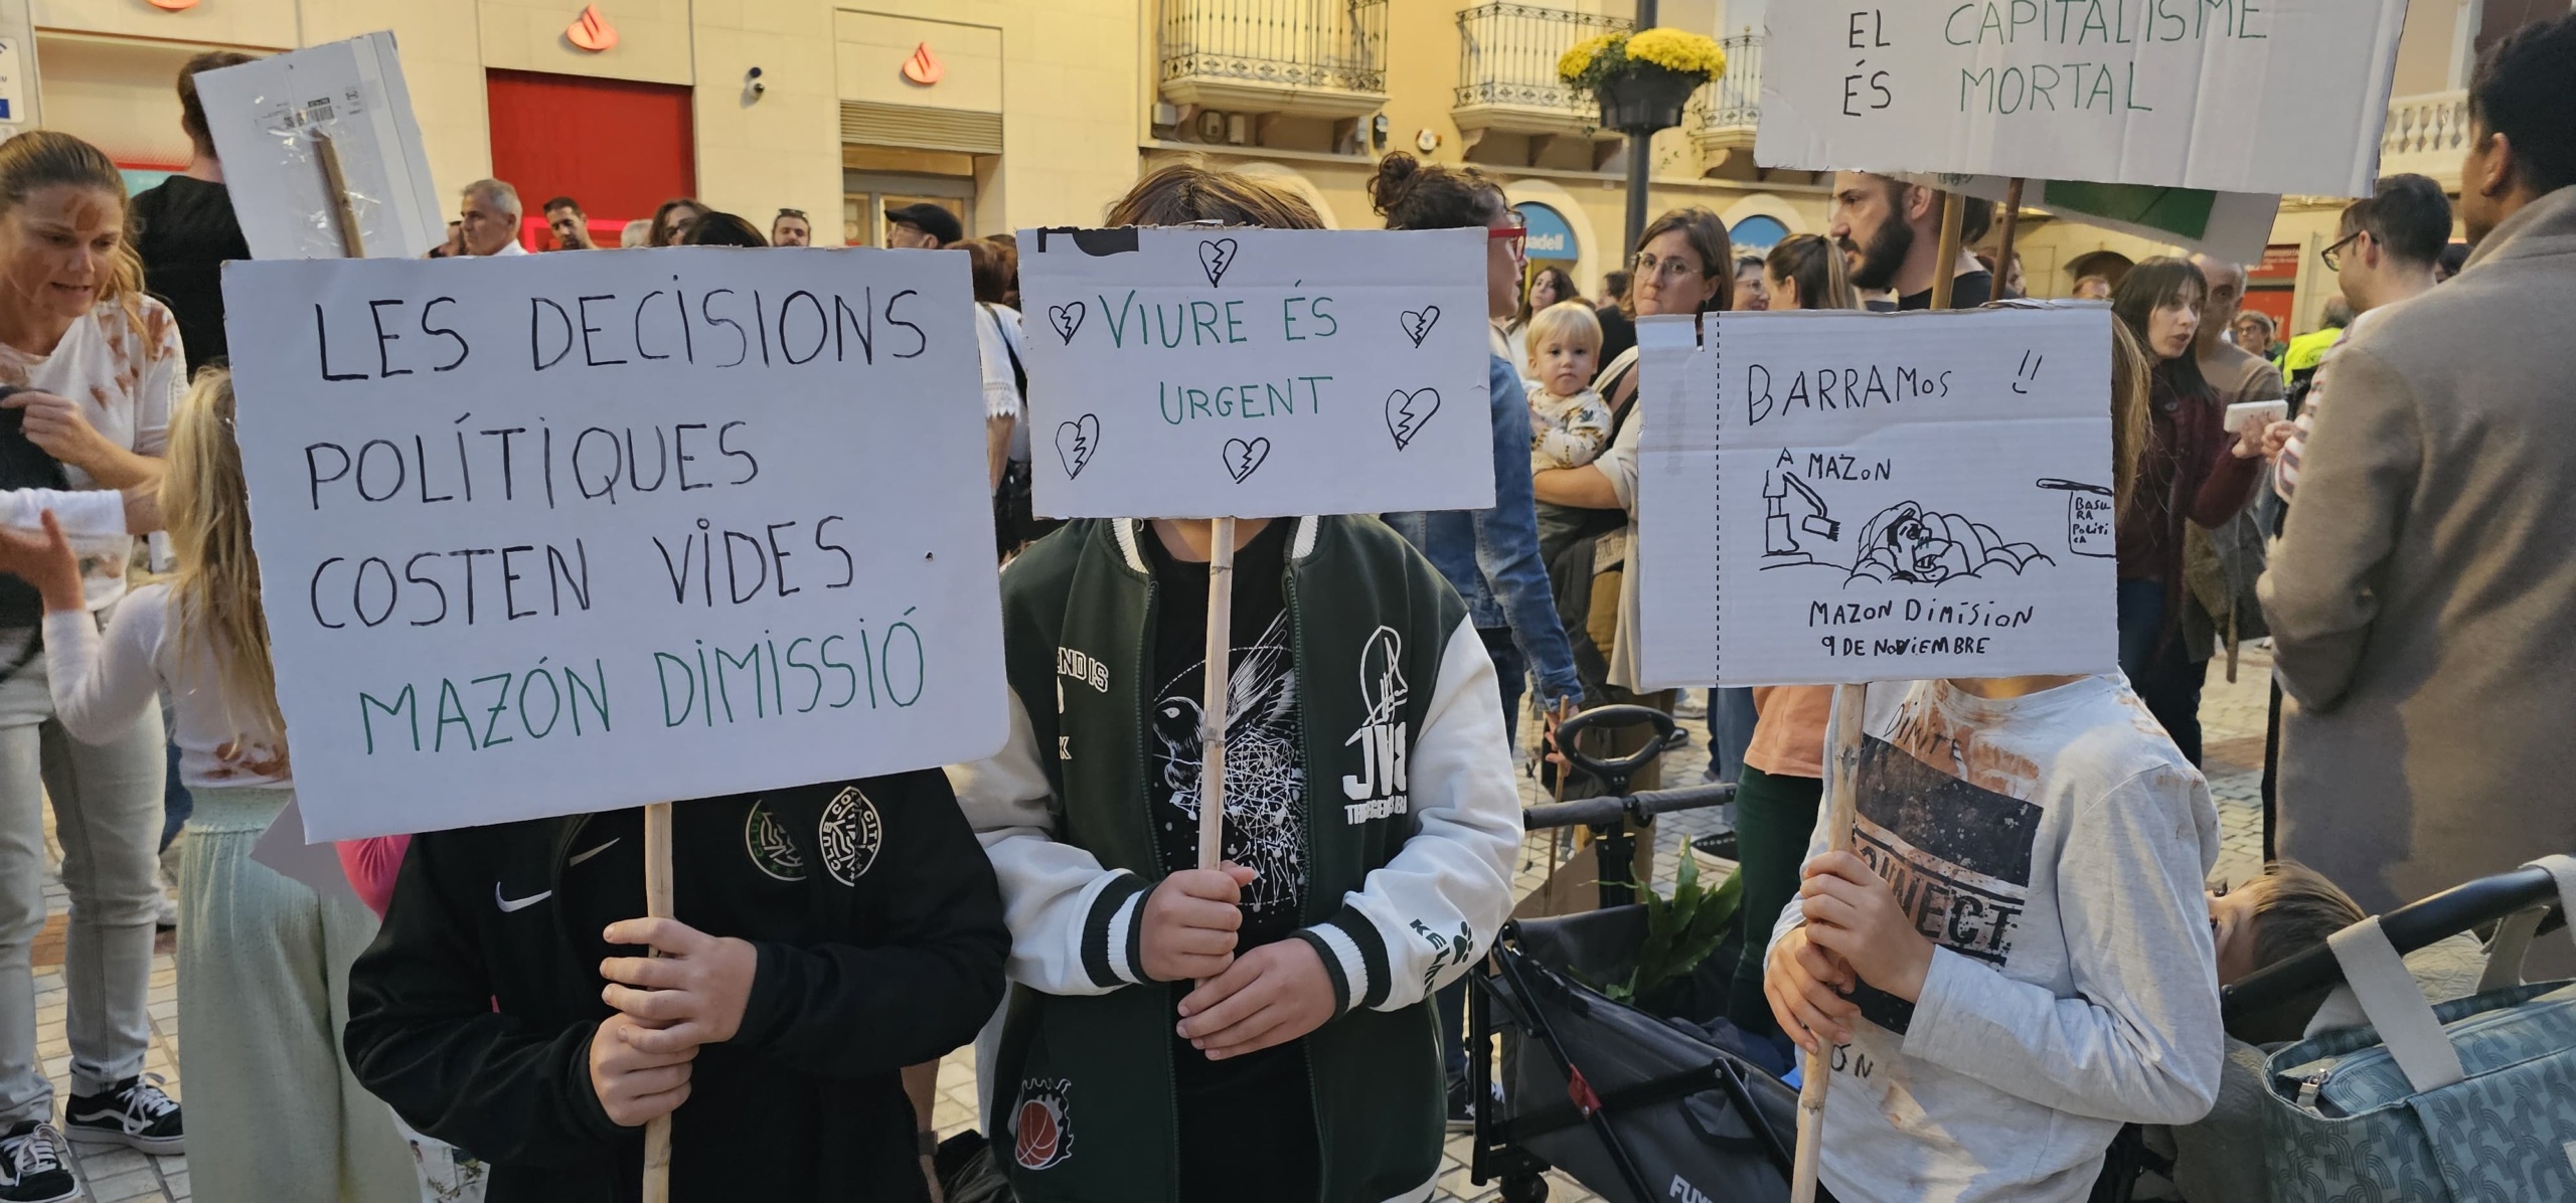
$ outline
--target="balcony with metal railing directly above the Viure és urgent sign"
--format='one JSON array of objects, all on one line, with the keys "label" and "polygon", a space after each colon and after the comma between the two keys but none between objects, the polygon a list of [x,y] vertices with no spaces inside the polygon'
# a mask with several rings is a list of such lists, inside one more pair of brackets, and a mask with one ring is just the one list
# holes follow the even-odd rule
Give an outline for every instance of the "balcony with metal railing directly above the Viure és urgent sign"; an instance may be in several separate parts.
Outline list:
[{"label": "balcony with metal railing directly above the Viure \u00e9s urgent sign", "polygon": [[1162,0],[1162,95],[1229,113],[1386,106],[1388,0]]}]

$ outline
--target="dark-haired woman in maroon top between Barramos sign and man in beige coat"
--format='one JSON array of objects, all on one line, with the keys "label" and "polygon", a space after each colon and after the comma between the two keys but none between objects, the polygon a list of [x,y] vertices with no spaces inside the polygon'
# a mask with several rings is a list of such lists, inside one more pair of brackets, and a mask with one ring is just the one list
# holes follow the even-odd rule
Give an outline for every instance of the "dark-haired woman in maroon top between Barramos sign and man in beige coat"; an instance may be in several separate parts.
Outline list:
[{"label": "dark-haired woman in maroon top between Barramos sign and man in beige coat", "polygon": [[2182,639],[2182,523],[2218,528],[2236,518],[2264,469],[2264,422],[2228,435],[2226,407],[2192,353],[2208,296],[2200,268],[2179,258],[2130,268],[2110,294],[2110,312],[2154,358],[2138,500],[2117,520],[2120,672],[2192,765],[2208,659],[2192,659]]}]

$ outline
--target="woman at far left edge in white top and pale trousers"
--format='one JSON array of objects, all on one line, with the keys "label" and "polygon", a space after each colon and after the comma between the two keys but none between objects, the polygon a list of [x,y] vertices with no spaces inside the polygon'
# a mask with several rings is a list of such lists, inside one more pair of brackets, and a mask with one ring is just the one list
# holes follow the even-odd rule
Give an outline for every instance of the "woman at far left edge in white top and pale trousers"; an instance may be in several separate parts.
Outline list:
[{"label": "woman at far left edge in white top and pale trousers", "polygon": [[[178,322],[142,294],[126,242],[126,185],[98,147],[46,129],[0,142],[0,399],[75,489],[149,487],[162,474],[170,399],[185,376]],[[80,603],[106,621],[126,592],[131,546],[80,556]],[[98,742],[54,721],[33,629],[0,631],[0,1200],[70,1198],[54,1087],[36,1061],[28,951],[44,927],[44,811],[54,801],[64,935],[64,1036],[82,1141],[178,1151],[178,1105],[144,1074],[152,1028],[155,853],[162,829],[160,714]]]}]

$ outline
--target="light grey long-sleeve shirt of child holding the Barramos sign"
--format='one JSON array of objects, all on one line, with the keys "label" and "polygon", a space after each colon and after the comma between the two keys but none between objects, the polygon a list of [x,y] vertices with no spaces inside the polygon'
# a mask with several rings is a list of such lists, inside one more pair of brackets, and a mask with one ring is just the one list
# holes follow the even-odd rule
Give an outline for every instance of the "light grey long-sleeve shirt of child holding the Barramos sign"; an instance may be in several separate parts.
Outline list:
[{"label": "light grey long-sleeve shirt of child holding the Barramos sign", "polygon": [[[1878,685],[1865,729],[1852,848],[1940,948],[1917,1002],[1860,992],[1824,1185],[2081,1200],[2120,1123],[2218,1097],[2208,783],[2107,675],[2009,701]],[[1793,899],[1772,940],[1801,922]]]}]

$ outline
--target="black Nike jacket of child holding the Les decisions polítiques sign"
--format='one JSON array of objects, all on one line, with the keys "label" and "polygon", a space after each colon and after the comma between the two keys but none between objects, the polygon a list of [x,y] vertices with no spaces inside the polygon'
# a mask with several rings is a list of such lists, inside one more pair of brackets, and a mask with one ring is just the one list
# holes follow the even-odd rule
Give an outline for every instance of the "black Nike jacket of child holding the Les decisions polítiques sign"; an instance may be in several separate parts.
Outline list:
[{"label": "black Nike jacket of child holding the Les decisions pol\u00edtiques sign", "polygon": [[[412,837],[348,987],[358,1079],[492,1164],[489,1203],[641,1198],[644,1128],[590,1090],[603,927],[644,914],[644,811]],[[974,1038],[1010,930],[940,773],[683,801],[680,922],[760,969],[732,1041],[672,1115],[672,1198],[917,1200],[899,1069]]]}]

